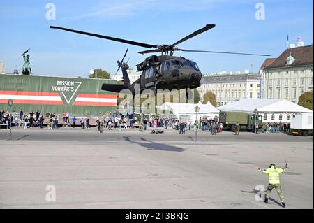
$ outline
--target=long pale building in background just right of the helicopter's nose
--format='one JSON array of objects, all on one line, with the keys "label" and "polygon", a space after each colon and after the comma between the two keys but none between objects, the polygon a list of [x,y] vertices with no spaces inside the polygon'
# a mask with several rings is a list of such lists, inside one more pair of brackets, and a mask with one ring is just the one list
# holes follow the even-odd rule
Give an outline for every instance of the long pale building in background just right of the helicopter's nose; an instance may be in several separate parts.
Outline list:
[{"label": "long pale building in background just right of the helicopter's nose", "polygon": [[257,73],[203,76],[197,90],[201,100],[206,92],[213,92],[217,106],[240,99],[260,99],[260,76]]}]

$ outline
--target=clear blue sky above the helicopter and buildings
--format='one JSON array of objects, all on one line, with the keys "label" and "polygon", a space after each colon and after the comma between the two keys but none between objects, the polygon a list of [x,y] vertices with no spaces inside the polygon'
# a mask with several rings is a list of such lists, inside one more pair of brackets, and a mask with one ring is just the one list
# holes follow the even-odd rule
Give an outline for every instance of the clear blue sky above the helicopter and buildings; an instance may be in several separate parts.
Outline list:
[{"label": "clear blue sky above the helicopter and buildings", "polygon": [[[47,3],[56,6],[56,20],[47,20]],[[265,20],[256,20],[256,3],[265,6]],[[79,29],[149,44],[172,44],[205,24],[216,24],[179,48],[264,53],[278,57],[287,47],[287,34],[295,43],[301,35],[313,44],[313,1],[251,0],[124,0],[124,1],[3,1],[0,8],[0,57],[6,71],[21,72],[22,52],[31,48],[36,75],[88,77],[89,71],[117,70],[126,48],[129,65],[145,59],[133,45],[82,36],[50,25]],[[194,59],[202,73],[257,71],[265,57],[176,52]]]}]

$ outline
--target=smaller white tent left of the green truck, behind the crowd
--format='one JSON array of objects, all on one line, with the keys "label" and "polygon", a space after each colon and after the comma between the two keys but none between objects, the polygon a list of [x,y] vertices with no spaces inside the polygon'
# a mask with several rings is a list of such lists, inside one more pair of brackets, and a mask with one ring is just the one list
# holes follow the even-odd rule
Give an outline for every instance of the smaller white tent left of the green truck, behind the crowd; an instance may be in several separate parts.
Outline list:
[{"label": "smaller white tent left of the green truck, behind the crowd", "polygon": [[173,114],[178,119],[184,117],[184,120],[195,121],[195,107],[198,106],[200,111],[198,117],[215,117],[219,116],[219,110],[211,105],[208,101],[206,104],[199,103],[170,103],[166,102],[162,106],[156,106],[158,113],[162,114]]}]

